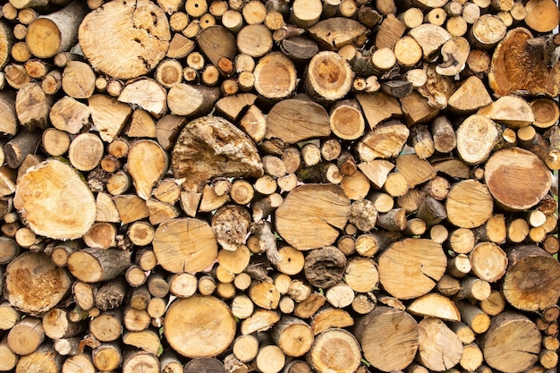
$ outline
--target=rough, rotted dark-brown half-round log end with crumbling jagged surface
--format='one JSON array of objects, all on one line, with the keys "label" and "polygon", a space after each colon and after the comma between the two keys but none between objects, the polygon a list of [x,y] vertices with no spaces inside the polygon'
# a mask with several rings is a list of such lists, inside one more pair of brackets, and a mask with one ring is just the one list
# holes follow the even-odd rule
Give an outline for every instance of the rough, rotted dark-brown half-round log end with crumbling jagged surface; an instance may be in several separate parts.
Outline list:
[{"label": "rough, rotted dark-brown half-round log end with crumbling jagged surface", "polygon": [[195,190],[216,176],[260,177],[264,173],[250,137],[217,116],[187,123],[175,143],[171,162],[174,176],[185,178],[187,188]]}]

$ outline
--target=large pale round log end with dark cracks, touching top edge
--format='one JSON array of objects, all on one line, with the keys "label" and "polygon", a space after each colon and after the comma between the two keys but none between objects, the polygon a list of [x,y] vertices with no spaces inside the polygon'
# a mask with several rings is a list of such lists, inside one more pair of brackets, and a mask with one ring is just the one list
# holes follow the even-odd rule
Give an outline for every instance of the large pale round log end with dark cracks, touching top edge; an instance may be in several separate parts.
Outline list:
[{"label": "large pale round log end with dark cracks, touching top edge", "polygon": [[79,40],[94,69],[131,79],[156,68],[167,53],[171,32],[157,4],[115,0],[84,18]]}]

